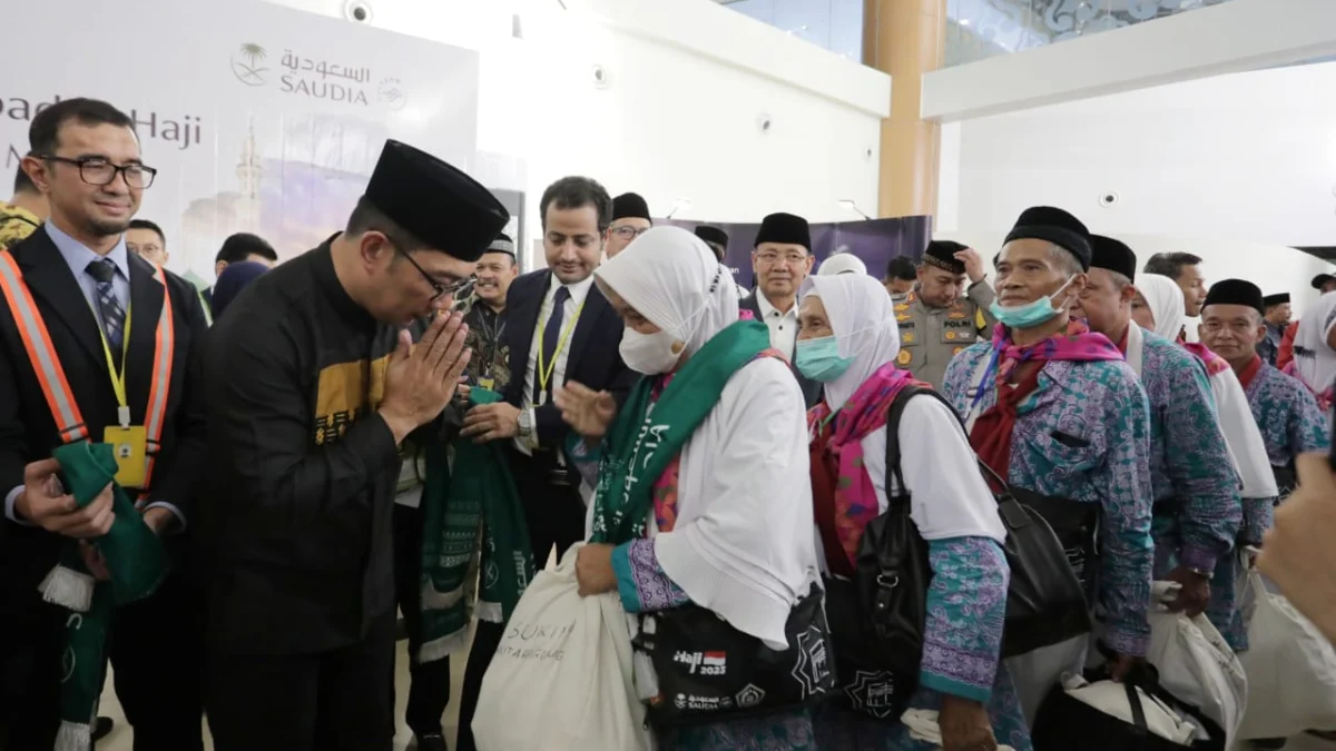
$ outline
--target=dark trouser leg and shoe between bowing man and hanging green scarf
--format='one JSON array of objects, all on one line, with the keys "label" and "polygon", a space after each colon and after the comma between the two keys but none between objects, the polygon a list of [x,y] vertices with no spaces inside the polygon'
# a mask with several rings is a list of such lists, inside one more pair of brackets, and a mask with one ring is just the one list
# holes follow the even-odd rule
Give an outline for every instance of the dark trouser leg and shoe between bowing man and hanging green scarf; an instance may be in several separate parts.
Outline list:
[{"label": "dark trouser leg and shoe between bowing man and hanging green scarf", "polygon": [[[405,722],[418,736],[440,734],[450,703],[450,659],[418,664],[422,645],[422,509],[394,506],[394,591],[409,632],[409,706]],[[393,687],[393,684],[391,684]]]}]

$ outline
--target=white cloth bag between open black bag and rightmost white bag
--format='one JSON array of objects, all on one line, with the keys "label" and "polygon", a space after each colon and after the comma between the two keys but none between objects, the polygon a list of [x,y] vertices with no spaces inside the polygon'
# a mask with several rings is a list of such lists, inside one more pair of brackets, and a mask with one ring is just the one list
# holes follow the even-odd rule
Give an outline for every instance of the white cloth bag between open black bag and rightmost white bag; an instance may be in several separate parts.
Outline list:
[{"label": "white cloth bag between open black bag and rightmost white bag", "polygon": [[1205,616],[1152,612],[1146,661],[1160,671],[1160,686],[1220,726],[1225,747],[1234,740],[1248,703],[1244,667]]}]

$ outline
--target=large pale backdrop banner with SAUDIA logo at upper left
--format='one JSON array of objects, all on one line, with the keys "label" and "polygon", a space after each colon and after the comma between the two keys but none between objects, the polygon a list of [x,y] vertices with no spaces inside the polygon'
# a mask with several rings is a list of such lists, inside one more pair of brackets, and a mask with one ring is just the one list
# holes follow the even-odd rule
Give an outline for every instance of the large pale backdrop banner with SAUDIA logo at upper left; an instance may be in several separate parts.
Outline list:
[{"label": "large pale backdrop banner with SAUDIA logo at upper left", "polygon": [[[0,73],[7,174],[44,107],[111,102],[134,118],[144,163],[158,170],[139,218],[163,227],[168,269],[196,283],[212,281],[232,233],[255,233],[287,258],[338,230],[387,138],[465,168],[474,155],[472,51],[257,0],[135,0],[130,13],[122,3],[45,0],[21,16],[31,33],[8,35],[7,57],[69,64]],[[87,29],[86,51],[100,52],[53,52],[39,31],[69,28]]]}]

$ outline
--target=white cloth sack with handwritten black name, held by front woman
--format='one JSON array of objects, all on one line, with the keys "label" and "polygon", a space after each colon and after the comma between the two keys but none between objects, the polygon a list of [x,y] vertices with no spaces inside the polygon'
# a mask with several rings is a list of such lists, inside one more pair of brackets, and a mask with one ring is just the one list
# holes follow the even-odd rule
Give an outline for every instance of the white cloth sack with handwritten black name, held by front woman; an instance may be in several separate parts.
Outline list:
[{"label": "white cloth sack with handwritten black name, held by front woman", "polygon": [[576,553],[534,577],[482,676],[480,751],[649,751],[632,680],[631,633],[615,592],[581,597]]}]

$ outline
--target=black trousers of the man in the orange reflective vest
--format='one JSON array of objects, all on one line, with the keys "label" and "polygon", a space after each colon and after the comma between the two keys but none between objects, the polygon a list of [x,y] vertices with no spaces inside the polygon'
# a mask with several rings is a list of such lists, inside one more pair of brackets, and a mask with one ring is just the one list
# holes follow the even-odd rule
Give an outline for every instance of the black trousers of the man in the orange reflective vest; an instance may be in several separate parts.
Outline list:
[{"label": "black trousers of the man in the orange reflective vest", "polygon": [[116,611],[111,667],[135,751],[203,751],[204,596],[171,573],[151,597]]}]

